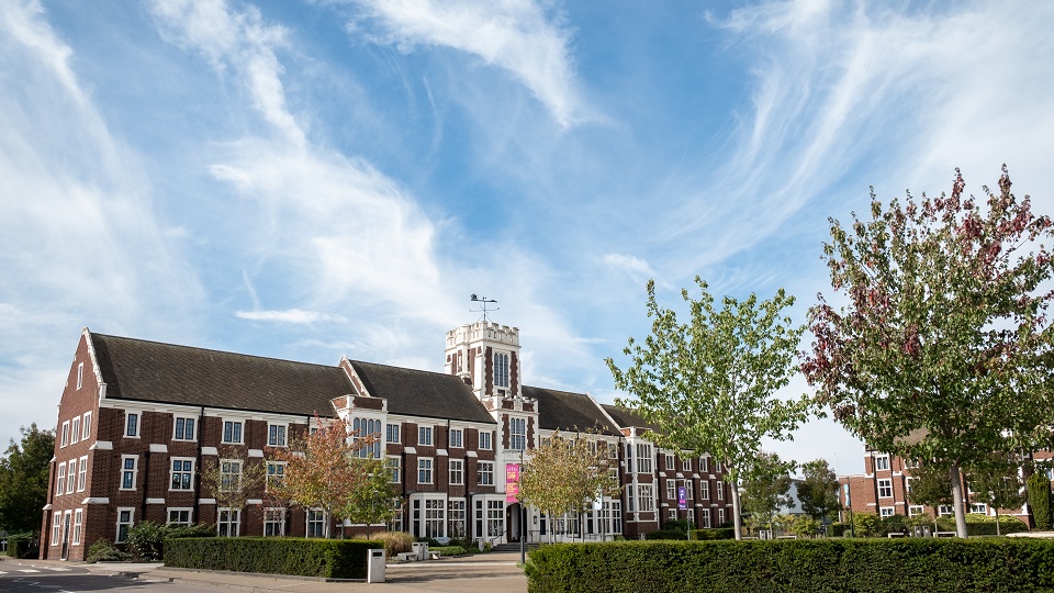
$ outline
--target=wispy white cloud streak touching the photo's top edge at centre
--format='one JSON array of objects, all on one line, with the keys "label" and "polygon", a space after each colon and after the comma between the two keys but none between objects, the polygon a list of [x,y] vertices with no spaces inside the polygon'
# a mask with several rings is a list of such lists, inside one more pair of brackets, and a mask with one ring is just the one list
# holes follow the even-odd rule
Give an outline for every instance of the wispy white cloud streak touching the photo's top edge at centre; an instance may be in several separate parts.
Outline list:
[{"label": "wispy white cloud streak touching the photo's top edge at centre", "polygon": [[559,14],[531,0],[495,2],[358,0],[362,19],[352,34],[368,29],[373,40],[410,52],[442,46],[474,55],[502,68],[530,89],[560,125],[587,119],[576,89],[571,37]]}]

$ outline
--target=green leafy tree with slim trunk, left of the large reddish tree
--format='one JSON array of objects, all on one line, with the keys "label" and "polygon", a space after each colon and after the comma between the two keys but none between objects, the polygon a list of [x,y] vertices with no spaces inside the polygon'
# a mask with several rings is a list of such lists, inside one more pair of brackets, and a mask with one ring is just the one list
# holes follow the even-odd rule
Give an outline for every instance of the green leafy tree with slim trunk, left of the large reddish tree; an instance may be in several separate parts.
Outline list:
[{"label": "green leafy tree with slim trunk, left of the large reddish tree", "polygon": [[659,306],[655,283],[649,281],[651,334],[643,344],[629,339],[624,353],[631,366],[626,370],[610,358],[607,366],[616,387],[632,396],[623,405],[659,428],[649,438],[693,456],[713,455],[726,465],[739,539],[739,485],[753,474],[762,439],[788,438],[810,409],[806,398],[776,396],[795,371],[804,327],[781,316],[794,304],[782,289],[767,301],[754,294],[743,301],[725,296],[718,310],[706,282],[695,281],[697,300],[681,291],[689,323],[679,323],[674,311]]}]

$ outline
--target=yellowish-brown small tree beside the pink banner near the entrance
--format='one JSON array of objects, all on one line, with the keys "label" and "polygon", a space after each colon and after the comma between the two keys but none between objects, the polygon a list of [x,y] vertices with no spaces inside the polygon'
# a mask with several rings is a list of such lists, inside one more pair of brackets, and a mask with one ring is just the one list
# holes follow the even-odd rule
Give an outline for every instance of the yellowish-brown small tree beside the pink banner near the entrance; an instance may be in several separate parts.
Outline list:
[{"label": "yellowish-brown small tree beside the pink banner near the entrance", "polygon": [[[613,469],[618,461],[588,434],[570,439],[559,432],[537,449],[526,451],[519,470],[519,501],[550,517],[581,514],[601,494],[617,496]],[[550,538],[552,530],[549,532]]]}]

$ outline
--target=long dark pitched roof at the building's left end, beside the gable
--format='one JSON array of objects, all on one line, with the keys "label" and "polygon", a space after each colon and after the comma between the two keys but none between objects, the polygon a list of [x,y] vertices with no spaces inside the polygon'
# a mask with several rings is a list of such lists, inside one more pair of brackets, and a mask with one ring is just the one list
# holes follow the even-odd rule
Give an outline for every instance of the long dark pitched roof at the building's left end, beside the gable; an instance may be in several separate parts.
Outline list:
[{"label": "long dark pitched roof at the building's left end, beside the gable", "polygon": [[338,367],[89,333],[106,399],[329,416],[354,393]]}]

